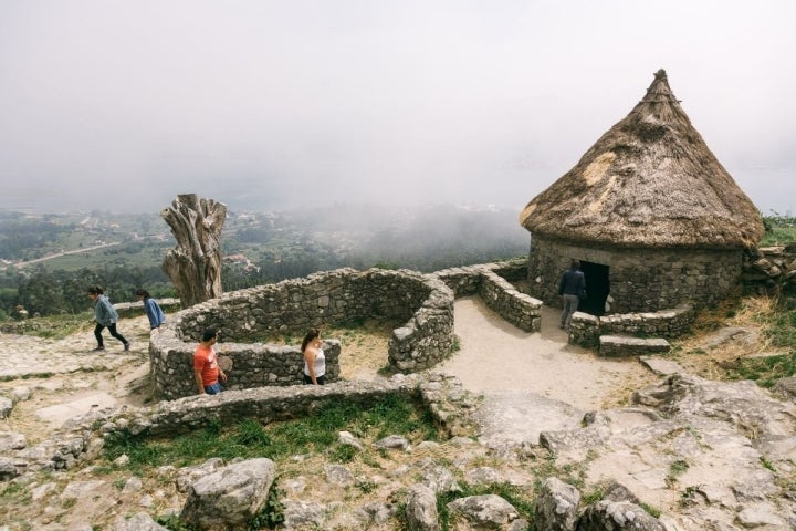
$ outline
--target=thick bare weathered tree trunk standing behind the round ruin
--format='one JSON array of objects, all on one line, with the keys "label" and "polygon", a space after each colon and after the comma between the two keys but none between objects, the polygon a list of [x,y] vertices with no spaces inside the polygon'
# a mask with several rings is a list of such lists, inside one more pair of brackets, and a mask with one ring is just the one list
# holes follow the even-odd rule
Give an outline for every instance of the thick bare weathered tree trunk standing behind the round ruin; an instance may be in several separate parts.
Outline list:
[{"label": "thick bare weathered tree trunk standing behind the round ruin", "polygon": [[171,228],[177,247],[163,263],[171,279],[182,308],[220,296],[221,229],[227,220],[227,205],[181,194],[164,208],[160,217]]}]

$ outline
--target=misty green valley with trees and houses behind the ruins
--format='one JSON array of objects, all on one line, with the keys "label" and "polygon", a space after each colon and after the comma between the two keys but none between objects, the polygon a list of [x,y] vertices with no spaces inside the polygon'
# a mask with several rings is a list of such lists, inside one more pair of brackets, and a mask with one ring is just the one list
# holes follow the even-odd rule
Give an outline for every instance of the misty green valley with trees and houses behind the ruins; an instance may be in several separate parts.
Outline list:
[{"label": "misty green valley with trees and houses behind the ruins", "polygon": [[[452,205],[228,211],[221,237],[224,291],[343,267],[431,272],[526,256],[517,212]],[[42,315],[80,312],[85,287],[117,302],[176,293],[161,270],[176,241],[159,214],[0,212],[0,317],[18,304]]]}]

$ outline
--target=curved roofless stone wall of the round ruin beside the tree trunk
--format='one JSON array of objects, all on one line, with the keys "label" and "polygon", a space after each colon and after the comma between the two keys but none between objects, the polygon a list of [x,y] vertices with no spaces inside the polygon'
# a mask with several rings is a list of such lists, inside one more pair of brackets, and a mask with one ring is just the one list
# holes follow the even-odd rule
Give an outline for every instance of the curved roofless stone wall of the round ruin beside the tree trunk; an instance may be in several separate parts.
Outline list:
[{"label": "curved roofless stone wall of the round ruin beside the tree trunk", "polygon": [[[224,293],[169,315],[150,336],[155,391],[166,399],[195,393],[192,353],[207,329],[221,334],[217,350],[228,385],[249,388],[301,383],[298,347],[265,345],[269,339],[301,337],[310,326],[373,317],[405,323],[388,344],[388,360],[400,371],[425,369],[450,353],[453,293],[444,282],[407,270],[339,269]],[[327,379],[334,381],[342,347],[326,345]]]}]

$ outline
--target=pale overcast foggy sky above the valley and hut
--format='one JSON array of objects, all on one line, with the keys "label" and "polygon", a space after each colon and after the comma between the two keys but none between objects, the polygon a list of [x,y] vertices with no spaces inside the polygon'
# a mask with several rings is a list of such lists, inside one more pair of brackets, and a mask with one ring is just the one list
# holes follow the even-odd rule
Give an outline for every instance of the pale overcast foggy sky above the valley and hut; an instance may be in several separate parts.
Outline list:
[{"label": "pale overcast foggy sky above the valley and hut", "polygon": [[658,69],[796,214],[796,1],[0,0],[0,208],[520,211]]}]

